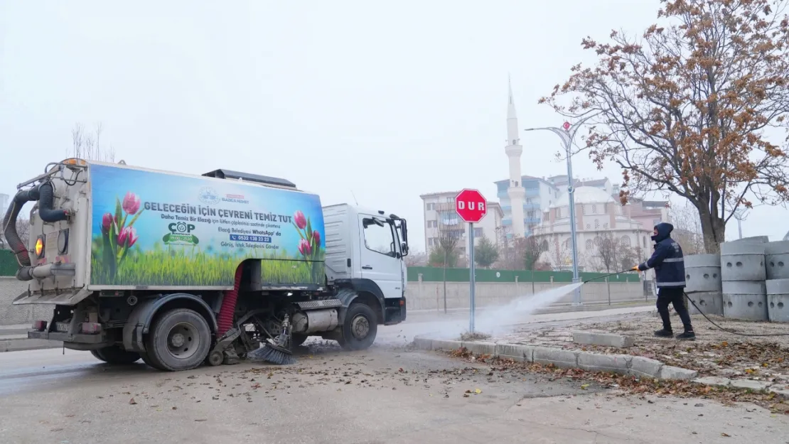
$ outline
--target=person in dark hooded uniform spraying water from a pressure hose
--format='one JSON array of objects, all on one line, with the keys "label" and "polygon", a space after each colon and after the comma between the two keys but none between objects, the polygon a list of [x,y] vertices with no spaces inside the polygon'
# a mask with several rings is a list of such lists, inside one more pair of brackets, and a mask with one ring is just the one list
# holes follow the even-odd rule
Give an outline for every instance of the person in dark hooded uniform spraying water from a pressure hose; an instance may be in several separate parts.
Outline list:
[{"label": "person in dark hooded uniform spraying water from a pressure hose", "polygon": [[671,239],[673,229],[674,226],[667,222],[660,222],[654,227],[652,240],[655,242],[655,252],[645,263],[633,267],[633,270],[655,269],[657,312],[660,313],[660,319],[663,319],[663,330],[657,330],[655,336],[674,336],[671,317],[668,315],[668,304],[673,304],[685,328],[685,332],[678,334],[676,338],[693,341],[696,334],[690,325],[690,313],[685,306],[685,259],[682,257],[682,247]]}]

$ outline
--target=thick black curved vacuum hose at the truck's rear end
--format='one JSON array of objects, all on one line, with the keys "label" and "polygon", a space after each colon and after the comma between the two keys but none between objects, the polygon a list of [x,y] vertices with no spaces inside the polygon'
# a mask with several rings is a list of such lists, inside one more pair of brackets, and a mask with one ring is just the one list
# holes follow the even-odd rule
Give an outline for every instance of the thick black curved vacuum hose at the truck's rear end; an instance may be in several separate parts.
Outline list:
[{"label": "thick black curved vacuum hose at the truck's rear end", "polygon": [[69,218],[68,211],[54,210],[54,185],[51,182],[47,181],[37,187],[21,190],[13,196],[9,211],[6,211],[2,221],[2,232],[6,235],[6,241],[19,263],[17,279],[20,281],[30,281],[33,277],[28,246],[17,233],[17,218],[25,203],[36,200],[39,201],[39,217],[44,222],[58,222]]}]

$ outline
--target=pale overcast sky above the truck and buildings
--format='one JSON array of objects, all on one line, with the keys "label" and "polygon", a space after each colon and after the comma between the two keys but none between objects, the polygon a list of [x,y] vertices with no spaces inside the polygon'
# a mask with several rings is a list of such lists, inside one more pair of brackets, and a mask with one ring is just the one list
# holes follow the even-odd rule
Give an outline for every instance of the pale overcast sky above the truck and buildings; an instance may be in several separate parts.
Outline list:
[{"label": "pale overcast sky above the truck and buildings", "polygon": [[[420,194],[495,200],[507,178],[507,75],[521,128],[560,125],[537,99],[589,60],[581,38],[641,32],[658,3],[0,0],[0,192],[101,121],[130,165],[285,177],[324,204],[353,192],[408,218],[424,250]],[[555,135],[522,144],[524,174],[565,172]],[[585,155],[574,170],[621,177]],[[779,239],[786,216],[757,208],[743,235]]]}]

